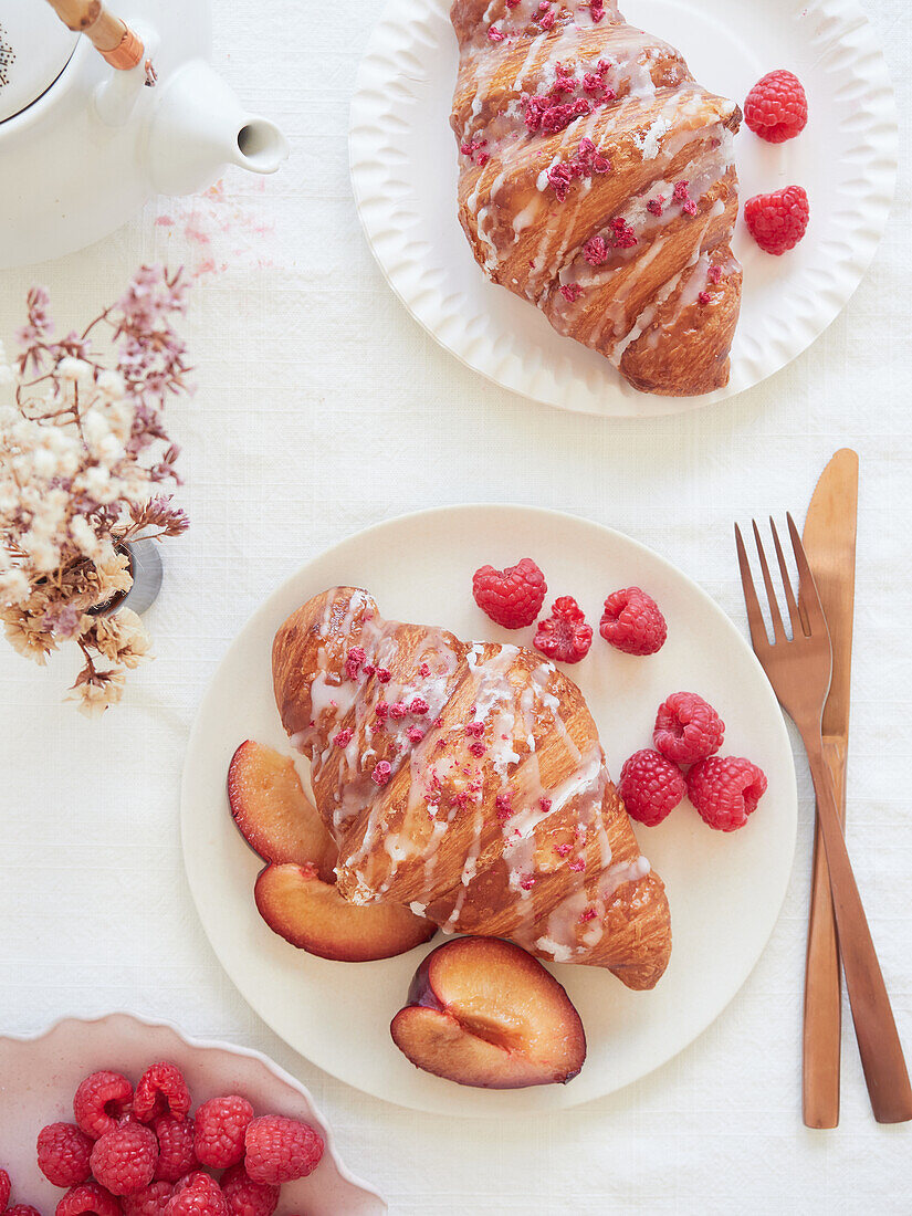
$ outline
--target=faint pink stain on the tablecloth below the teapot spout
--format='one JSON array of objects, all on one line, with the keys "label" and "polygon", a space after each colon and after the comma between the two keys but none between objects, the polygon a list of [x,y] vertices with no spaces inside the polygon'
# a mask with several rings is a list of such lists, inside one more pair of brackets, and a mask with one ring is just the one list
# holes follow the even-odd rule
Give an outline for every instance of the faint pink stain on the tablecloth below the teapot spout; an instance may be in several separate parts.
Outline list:
[{"label": "faint pink stain on the tablecloth below the teapot spout", "polygon": [[[265,190],[265,182],[259,190]],[[174,199],[171,210],[156,216],[154,226],[167,232],[169,258],[174,257],[171,246],[182,247],[180,257],[193,278],[274,265],[274,225],[254,214],[247,199],[232,197],[224,180],[202,195]]]}]

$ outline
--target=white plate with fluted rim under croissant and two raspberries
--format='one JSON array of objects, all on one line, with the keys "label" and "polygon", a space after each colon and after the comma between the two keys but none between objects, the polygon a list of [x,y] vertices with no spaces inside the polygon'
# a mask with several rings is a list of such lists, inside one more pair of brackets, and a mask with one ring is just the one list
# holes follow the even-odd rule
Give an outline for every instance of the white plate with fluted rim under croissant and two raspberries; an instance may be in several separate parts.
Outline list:
[{"label": "white plate with fluted rim under croissant and two raspberries", "polygon": [[561,337],[475,265],[456,218],[456,80],[450,0],[389,0],[351,105],[351,176],[367,240],[405,306],[444,347],[505,388],[565,410],[649,416],[743,393],[800,355],[858,286],[883,233],[896,174],[886,66],[856,0],[621,0],[636,26],[677,46],[706,88],[743,102],[766,72],[804,81],[810,119],[783,145],[745,126],[742,199],[796,184],[811,223],[792,253],[762,253],[738,223],[744,298],[728,385],[699,398],[638,393]]}]

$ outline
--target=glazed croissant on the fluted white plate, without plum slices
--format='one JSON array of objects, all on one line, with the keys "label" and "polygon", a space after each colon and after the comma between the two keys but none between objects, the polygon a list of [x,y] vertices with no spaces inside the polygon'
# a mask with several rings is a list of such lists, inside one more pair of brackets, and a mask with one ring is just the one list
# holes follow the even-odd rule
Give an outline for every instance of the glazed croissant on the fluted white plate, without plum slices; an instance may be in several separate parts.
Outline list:
[{"label": "glazed croissant on the fluted white plate, without plum slices", "polygon": [[741,111],[614,0],[455,0],[451,125],[475,260],[666,396],[728,382]]}]

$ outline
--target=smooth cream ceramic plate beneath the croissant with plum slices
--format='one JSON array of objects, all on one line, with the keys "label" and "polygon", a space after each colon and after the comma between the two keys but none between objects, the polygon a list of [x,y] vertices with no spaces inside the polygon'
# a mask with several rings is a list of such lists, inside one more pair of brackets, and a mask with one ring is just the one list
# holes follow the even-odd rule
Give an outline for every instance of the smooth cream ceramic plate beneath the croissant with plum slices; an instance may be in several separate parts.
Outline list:
[{"label": "smooth cream ceramic plate beneath the croissant with plum slices", "polygon": [[[260,921],[253,884],[261,866],[229,814],[225,776],[235,748],[255,738],[289,755],[272,699],[270,648],[285,620],[336,585],[366,587],[398,620],[443,625],[463,638],[529,643],[475,607],[472,574],[535,554],[553,595],[573,593],[597,620],[608,591],[638,584],[662,604],[669,638],[649,659],[596,637],[572,671],[598,724],[608,765],[648,747],[655,709],[692,689],[727,724],[725,751],[749,755],[769,790],[741,831],[708,828],[689,806],[641,846],[671,903],[671,963],[652,992],[607,972],[551,968],[582,1018],[589,1058],[567,1086],[471,1090],[415,1069],[389,1023],[405,1001],[424,946],[375,963],[337,963],[294,950]],[[732,561],[733,561],[732,556]],[[550,601],[548,601],[550,602]],[[302,771],[304,771],[302,761]],[[405,516],[353,536],[278,589],[221,662],[193,728],[184,770],[184,857],[203,927],[231,979],[269,1025],[320,1068],[377,1097],[420,1110],[510,1115],[554,1110],[627,1085],[686,1047],[725,1008],[764,948],[786,893],[795,844],[795,777],[782,714],[747,643],[698,586],[619,533],[529,507],[452,507]],[[439,944],[439,935],[434,945]]]}]

